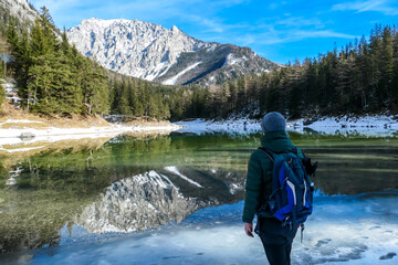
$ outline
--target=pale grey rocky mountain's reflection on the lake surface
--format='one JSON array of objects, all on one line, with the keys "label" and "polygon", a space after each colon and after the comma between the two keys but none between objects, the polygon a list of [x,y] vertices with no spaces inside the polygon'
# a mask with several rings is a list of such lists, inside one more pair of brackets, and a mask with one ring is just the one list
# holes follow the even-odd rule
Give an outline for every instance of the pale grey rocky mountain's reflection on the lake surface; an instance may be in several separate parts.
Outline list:
[{"label": "pale grey rocky mountain's reflection on the lake surface", "polygon": [[[211,177],[200,172],[196,179],[209,182],[205,178]],[[176,174],[149,171],[114,182],[83,210],[75,223],[91,233],[142,231],[181,222],[198,209],[238,201],[243,191],[242,184],[238,194],[228,184],[219,183],[214,197],[211,188],[216,187],[196,187],[197,182],[187,178],[187,183],[180,183],[186,188],[179,188],[170,179],[176,179]]]}]

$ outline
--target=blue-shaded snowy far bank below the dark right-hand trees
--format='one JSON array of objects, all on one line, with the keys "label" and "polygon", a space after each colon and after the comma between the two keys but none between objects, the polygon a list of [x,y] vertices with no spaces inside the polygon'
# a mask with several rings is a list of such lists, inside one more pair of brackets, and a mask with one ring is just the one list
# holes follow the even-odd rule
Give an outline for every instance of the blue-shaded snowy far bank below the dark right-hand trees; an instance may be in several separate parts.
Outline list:
[{"label": "blue-shaded snowy far bank below the dark right-hand trees", "polygon": [[[290,131],[313,131],[326,135],[335,134],[358,134],[364,136],[391,137],[398,132],[397,116],[363,116],[350,118],[344,117],[325,117],[304,125],[304,119],[287,120],[287,130]],[[205,120],[195,119],[189,121],[178,121],[184,126],[179,132],[232,132],[232,134],[251,134],[261,131],[260,119],[250,118],[230,118],[227,120]]]}]

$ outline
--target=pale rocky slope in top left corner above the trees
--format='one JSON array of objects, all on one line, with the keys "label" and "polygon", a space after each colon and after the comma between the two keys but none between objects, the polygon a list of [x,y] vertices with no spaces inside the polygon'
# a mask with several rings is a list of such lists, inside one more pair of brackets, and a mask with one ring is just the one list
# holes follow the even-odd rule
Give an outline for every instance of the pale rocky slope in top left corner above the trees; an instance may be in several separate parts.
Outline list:
[{"label": "pale rocky slope in top left corner above the trees", "polygon": [[9,10],[11,15],[29,23],[33,23],[39,14],[27,0],[1,0],[0,8]]}]

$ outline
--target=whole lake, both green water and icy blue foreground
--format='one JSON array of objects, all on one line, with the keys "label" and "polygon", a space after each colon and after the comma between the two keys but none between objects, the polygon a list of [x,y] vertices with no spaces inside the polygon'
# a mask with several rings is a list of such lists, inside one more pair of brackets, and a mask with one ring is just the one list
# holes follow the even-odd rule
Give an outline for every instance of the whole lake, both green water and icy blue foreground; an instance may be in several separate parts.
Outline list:
[{"label": "whole lake, both green water and icy blue foreground", "polygon": [[[397,264],[397,137],[290,137],[320,163],[292,264]],[[260,138],[123,135],[2,155],[0,263],[264,264],[241,222]]]}]

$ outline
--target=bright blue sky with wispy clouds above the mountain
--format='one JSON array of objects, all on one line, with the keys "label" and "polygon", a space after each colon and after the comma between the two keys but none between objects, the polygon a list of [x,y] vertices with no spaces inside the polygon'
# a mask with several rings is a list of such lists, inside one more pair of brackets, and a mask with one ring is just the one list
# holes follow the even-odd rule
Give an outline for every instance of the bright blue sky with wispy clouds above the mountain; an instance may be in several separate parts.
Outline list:
[{"label": "bright blue sky with wispy clouds above the mountain", "polygon": [[398,22],[396,0],[30,0],[46,6],[55,24],[83,19],[129,19],[177,25],[202,40],[253,49],[276,63],[317,56],[341,47],[375,23]]}]

